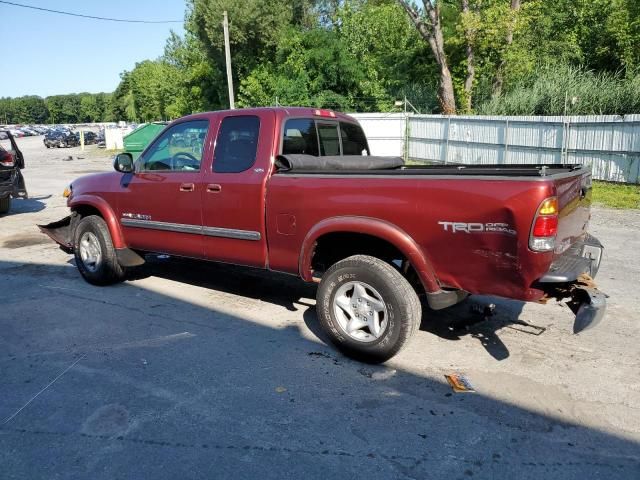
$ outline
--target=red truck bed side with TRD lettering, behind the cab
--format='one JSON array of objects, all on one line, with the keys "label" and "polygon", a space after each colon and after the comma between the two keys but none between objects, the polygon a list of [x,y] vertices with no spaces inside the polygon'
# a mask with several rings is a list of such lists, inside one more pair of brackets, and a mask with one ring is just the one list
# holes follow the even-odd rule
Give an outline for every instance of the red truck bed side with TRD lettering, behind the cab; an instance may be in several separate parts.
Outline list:
[{"label": "red truck bed side with TRD lettering, behind the cab", "polygon": [[[586,231],[590,180],[583,165],[277,171],[267,186],[269,263],[294,273],[299,267],[294,252],[314,226],[375,217],[419,245],[441,286],[536,300],[542,292],[534,283]],[[556,249],[533,252],[528,239],[536,211],[552,196],[560,208]],[[453,223],[499,225],[501,231],[454,233],[447,227]]]}]

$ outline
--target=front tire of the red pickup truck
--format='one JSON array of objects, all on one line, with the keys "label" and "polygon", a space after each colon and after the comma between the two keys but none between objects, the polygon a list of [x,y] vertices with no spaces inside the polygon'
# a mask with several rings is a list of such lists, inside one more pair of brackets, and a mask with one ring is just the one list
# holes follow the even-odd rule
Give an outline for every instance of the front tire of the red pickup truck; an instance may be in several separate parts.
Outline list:
[{"label": "front tire of the red pickup truck", "polygon": [[[87,247],[81,245],[81,242],[85,241],[91,242],[96,249],[99,247],[99,261],[92,262],[89,259],[83,259],[83,249],[86,252]],[[97,215],[83,218],[76,227],[73,252],[76,266],[87,282],[93,285],[111,285],[124,281],[126,272],[118,263],[107,224]]]}]

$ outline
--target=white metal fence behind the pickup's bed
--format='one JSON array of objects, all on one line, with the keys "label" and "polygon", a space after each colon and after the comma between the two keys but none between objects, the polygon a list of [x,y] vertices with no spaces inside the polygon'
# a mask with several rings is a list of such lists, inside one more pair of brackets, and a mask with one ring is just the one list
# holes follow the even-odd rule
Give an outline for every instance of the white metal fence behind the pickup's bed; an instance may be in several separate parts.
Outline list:
[{"label": "white metal fence behind the pickup's bed", "polygon": [[374,155],[430,163],[583,163],[596,179],[640,183],[640,115],[353,116]]}]

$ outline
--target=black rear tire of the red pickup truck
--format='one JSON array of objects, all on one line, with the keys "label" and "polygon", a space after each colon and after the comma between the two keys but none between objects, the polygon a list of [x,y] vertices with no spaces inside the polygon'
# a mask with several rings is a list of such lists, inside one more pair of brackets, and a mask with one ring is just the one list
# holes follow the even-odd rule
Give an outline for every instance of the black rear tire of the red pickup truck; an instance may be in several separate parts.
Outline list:
[{"label": "black rear tire of the red pickup truck", "polygon": [[[334,310],[334,300],[341,287],[348,291],[350,285],[360,282],[373,287],[375,292],[367,290],[367,294],[373,293],[374,297],[377,294],[386,307],[386,328],[373,341],[353,338],[340,325]],[[327,270],[316,300],[320,325],[331,341],[345,355],[364,362],[380,363],[390,359],[420,326],[422,309],[413,287],[392,265],[368,255],[348,257]],[[367,336],[366,330],[364,335]],[[369,335],[373,337],[375,335]]]}]

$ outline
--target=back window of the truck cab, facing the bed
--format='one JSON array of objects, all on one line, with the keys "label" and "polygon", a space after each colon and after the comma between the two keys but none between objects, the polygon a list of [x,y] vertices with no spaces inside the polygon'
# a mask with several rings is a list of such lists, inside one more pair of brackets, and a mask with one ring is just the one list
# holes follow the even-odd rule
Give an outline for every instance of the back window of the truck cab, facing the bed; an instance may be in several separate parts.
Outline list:
[{"label": "back window of the truck cab, facing the bed", "polygon": [[370,153],[367,138],[356,124],[292,118],[284,127],[282,154],[361,156]]}]

